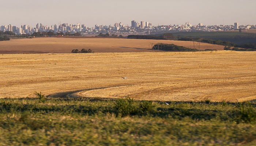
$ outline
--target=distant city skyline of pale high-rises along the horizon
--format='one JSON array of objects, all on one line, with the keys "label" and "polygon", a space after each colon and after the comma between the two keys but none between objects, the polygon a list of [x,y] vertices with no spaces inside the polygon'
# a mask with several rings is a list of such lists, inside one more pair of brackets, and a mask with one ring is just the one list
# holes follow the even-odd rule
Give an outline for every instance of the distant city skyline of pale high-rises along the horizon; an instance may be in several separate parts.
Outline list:
[{"label": "distant city skyline of pale high-rises along the horizon", "polygon": [[231,31],[238,29],[255,29],[256,25],[241,25],[234,23],[234,25],[215,25],[207,26],[199,23],[196,26],[192,26],[189,22],[182,25],[160,25],[152,26],[149,22],[136,22],[135,20],[131,21],[131,26],[124,25],[123,23],[115,23],[112,25],[98,25],[95,24],[95,27],[88,27],[85,24],[68,24],[68,23],[59,23],[58,25],[54,24],[52,26],[44,26],[43,24],[37,23],[35,27],[21,25],[20,27],[10,25],[4,25],[0,27],[0,31],[11,31],[16,35],[22,34],[33,34],[34,32],[39,31],[52,31],[52,32],[79,32],[81,35],[93,35],[101,33],[117,34],[117,35],[145,35],[145,34],[159,34],[163,32],[192,32],[192,31]]}]

